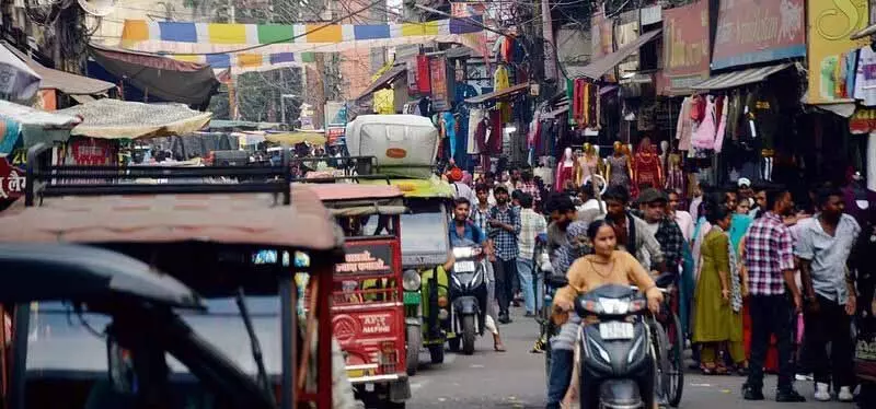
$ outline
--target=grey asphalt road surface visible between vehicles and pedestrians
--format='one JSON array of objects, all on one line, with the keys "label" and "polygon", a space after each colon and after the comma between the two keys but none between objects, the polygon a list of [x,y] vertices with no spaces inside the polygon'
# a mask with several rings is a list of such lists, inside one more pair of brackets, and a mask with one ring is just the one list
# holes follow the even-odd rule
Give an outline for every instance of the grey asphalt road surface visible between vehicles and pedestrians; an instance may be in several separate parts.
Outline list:
[{"label": "grey asphalt road surface visible between vehicles and pedestrians", "polygon": [[[521,308],[514,308],[520,313]],[[445,363],[428,364],[428,353],[420,353],[418,373],[411,378],[412,400],[408,408],[543,408],[544,355],[530,353],[538,336],[531,318],[515,316],[514,323],[500,327],[507,352],[493,351],[492,337],[480,338],[474,355],[449,353]],[[775,376],[768,376],[766,398],[775,387]],[[739,376],[702,376],[688,372],[681,408],[787,408],[853,409],[853,404],[816,402],[811,399],[810,383],[797,382],[796,387],[807,397],[806,404],[777,404],[774,400],[748,402],[742,400]]]}]

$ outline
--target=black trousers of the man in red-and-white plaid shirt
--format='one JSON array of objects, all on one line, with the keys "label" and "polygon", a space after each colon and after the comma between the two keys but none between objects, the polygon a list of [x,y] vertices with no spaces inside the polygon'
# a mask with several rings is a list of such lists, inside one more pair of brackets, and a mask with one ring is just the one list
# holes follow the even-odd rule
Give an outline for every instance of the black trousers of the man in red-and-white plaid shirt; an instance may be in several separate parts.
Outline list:
[{"label": "black trousers of the man in red-and-white plaid shirt", "polygon": [[791,362],[791,303],[785,295],[752,295],[749,311],[751,360],[746,385],[754,390],[763,388],[763,362],[770,349],[770,336],[774,335],[779,347],[779,390],[791,390],[794,379],[794,365]]}]

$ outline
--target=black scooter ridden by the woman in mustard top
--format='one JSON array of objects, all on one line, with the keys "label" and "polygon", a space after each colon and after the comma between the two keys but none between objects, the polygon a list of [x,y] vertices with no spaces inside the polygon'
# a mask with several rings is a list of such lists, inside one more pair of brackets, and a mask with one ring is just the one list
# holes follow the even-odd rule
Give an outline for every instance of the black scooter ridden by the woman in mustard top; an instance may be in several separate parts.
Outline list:
[{"label": "black scooter ridden by the woman in mustard top", "polygon": [[647,300],[626,285],[602,285],[575,301],[581,409],[650,408],[655,359]]}]

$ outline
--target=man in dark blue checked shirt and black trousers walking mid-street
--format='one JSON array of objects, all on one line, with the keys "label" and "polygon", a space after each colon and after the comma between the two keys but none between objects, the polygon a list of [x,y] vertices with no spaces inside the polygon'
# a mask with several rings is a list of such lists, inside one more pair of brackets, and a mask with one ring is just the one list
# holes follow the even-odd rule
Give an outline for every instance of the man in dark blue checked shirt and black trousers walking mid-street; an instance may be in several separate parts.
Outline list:
[{"label": "man in dark blue checked shirt and black trousers walking mid-street", "polygon": [[520,215],[510,207],[508,189],[497,185],[493,189],[496,206],[489,209],[489,238],[496,252],[496,300],[499,303],[499,323],[511,322],[510,307],[512,281],[517,276],[517,256],[520,253],[518,235],[520,234]]}]

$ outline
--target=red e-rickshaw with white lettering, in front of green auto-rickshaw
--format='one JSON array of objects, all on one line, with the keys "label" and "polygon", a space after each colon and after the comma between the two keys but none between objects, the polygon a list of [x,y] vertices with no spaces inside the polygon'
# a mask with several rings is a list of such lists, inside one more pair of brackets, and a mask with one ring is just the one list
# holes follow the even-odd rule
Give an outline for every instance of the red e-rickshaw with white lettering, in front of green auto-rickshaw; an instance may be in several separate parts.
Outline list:
[{"label": "red e-rickshaw with white lettering, in front of green auto-rickshaw", "polygon": [[403,290],[419,274],[402,273],[402,191],[394,186],[311,184],[344,231],[344,262],[335,267],[333,331],[347,375],[367,407],[402,408],[411,397],[408,370],[418,363],[419,320],[405,318]]}]

